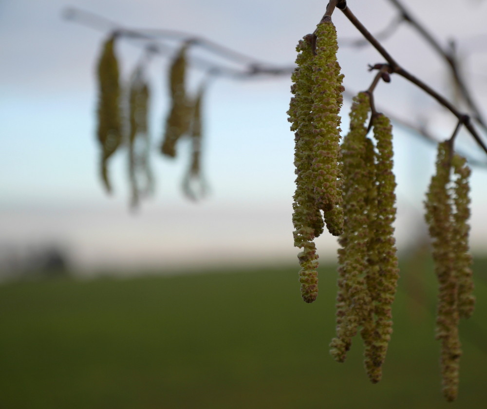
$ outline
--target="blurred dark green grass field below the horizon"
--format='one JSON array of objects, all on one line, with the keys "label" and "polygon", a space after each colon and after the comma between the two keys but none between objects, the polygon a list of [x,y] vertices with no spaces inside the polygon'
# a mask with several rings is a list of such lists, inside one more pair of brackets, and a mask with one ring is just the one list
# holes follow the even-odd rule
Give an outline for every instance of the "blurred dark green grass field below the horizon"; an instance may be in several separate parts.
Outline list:
[{"label": "blurred dark green grass field below the horizon", "polygon": [[0,408],[485,408],[486,266],[475,265],[478,304],[461,326],[453,404],[440,392],[433,273],[411,260],[376,385],[358,338],[344,364],[328,353],[333,266],[320,267],[311,305],[296,267],[3,284]]}]

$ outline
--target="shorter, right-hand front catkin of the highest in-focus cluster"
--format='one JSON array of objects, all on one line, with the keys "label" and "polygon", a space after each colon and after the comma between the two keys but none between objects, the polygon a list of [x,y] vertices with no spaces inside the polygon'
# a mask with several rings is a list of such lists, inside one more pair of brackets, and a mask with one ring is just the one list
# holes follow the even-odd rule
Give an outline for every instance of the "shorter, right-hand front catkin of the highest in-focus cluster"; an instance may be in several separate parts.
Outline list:
[{"label": "shorter, right-hand front catkin of the highest in-focus cluster", "polygon": [[317,206],[324,211],[328,231],[343,231],[340,153],[340,108],[343,74],[337,61],[337,31],[331,20],[321,21],[315,31],[313,58],[313,174]]}]

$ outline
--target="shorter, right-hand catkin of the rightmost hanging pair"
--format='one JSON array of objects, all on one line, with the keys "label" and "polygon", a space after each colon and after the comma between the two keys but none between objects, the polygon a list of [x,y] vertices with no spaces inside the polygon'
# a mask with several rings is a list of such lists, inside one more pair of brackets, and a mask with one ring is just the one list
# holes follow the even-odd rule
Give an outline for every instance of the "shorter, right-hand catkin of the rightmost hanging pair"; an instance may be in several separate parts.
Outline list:
[{"label": "shorter, right-hand catkin of the rightmost hanging pair", "polygon": [[458,276],[458,312],[461,318],[469,318],[475,308],[475,297],[473,295],[472,256],[469,253],[468,233],[470,226],[470,188],[468,178],[470,168],[466,159],[458,154],[453,155],[452,167],[454,175],[457,176],[454,185],[454,223],[452,230],[452,241],[455,249],[454,270]]}]

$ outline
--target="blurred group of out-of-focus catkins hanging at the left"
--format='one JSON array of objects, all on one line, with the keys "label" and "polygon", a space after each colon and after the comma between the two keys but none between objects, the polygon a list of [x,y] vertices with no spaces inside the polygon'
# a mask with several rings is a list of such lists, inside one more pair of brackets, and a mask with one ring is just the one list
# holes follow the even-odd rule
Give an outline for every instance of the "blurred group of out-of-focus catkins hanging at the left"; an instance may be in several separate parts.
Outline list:
[{"label": "blurred group of out-of-focus catkins hanging at the left", "polygon": [[[127,86],[122,87],[119,63],[114,52],[115,40],[119,35],[120,33],[113,33],[104,42],[98,61],[97,135],[102,150],[101,176],[106,189],[111,191],[108,161],[119,148],[127,147],[131,206],[136,207],[142,197],[153,191],[148,132],[150,89],[145,78],[148,58],[146,56],[141,60]],[[196,97],[188,95],[186,71],[190,43],[182,43],[169,69],[171,107],[165,121],[161,152],[175,157],[181,137],[190,138],[191,158],[183,178],[183,192],[195,200],[206,193],[206,184],[201,175],[201,106],[207,82],[202,84]]]}]

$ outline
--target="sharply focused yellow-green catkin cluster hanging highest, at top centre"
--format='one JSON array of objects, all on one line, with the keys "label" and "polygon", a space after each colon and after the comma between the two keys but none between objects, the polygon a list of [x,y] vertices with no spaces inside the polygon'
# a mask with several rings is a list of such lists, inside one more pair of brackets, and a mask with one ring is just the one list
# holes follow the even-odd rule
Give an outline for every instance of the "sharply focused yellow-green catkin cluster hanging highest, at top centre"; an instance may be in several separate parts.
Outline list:
[{"label": "sharply focused yellow-green catkin cluster hanging highest, at top centre", "polygon": [[313,240],[323,232],[325,222],[334,235],[343,230],[338,115],[343,75],[337,48],[331,21],[320,22],[314,35],[300,40],[288,111],[296,144],[294,245],[303,249],[298,254],[301,295],[308,303],[318,295],[318,254]]}]

